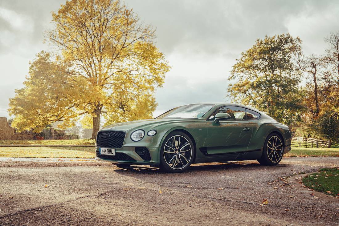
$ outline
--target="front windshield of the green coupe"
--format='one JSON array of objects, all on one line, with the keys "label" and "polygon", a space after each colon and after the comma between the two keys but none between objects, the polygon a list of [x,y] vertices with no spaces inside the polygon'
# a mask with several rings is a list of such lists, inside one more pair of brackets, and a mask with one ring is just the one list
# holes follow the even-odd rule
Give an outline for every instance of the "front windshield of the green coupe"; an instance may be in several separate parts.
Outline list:
[{"label": "front windshield of the green coupe", "polygon": [[156,119],[166,118],[185,118],[185,119],[198,119],[209,111],[214,104],[190,104],[173,108],[158,116]]}]

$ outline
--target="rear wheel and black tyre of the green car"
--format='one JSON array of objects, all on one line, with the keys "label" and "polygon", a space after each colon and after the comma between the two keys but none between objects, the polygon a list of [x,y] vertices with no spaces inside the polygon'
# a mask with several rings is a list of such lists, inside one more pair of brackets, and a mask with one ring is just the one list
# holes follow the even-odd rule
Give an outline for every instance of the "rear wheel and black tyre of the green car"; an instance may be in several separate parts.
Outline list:
[{"label": "rear wheel and black tyre of the green car", "polygon": [[258,159],[258,162],[261,165],[275,166],[281,161],[283,152],[284,142],[282,137],[276,132],[270,133],[265,140],[262,156]]}]

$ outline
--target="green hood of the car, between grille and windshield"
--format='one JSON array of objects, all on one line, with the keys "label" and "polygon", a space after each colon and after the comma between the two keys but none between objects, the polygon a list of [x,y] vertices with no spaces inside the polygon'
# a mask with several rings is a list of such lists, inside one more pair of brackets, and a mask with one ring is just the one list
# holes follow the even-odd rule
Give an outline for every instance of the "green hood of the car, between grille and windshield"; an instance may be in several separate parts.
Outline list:
[{"label": "green hood of the car, between grille and windshield", "polygon": [[131,122],[121,122],[112,124],[106,127],[103,127],[101,130],[122,130],[127,131],[129,129],[138,128],[142,126],[148,126],[154,124],[162,124],[162,123],[168,123],[168,122],[179,122],[183,120],[192,120],[192,119],[144,119],[144,120],[137,120],[137,121],[131,121]]}]

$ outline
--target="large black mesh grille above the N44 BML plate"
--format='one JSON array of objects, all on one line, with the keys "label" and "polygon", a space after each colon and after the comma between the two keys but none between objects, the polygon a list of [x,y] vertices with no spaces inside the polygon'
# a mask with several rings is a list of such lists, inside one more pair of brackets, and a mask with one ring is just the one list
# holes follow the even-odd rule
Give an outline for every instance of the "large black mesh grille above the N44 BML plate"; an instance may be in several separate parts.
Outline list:
[{"label": "large black mesh grille above the N44 BML plate", "polygon": [[97,135],[98,147],[120,148],[124,143],[125,132],[121,131],[101,131]]}]

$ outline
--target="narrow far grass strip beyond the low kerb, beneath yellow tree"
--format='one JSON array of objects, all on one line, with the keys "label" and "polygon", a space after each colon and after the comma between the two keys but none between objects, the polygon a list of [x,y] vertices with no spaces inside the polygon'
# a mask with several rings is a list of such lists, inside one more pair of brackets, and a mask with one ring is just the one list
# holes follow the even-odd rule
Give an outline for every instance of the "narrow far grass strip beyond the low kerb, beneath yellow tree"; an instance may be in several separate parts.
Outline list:
[{"label": "narrow far grass strip beyond the low kerb, beneath yellow tree", "polygon": [[41,144],[41,145],[88,145],[95,144],[94,139],[79,139],[79,140],[28,140],[28,141],[0,141],[1,144]]}]

